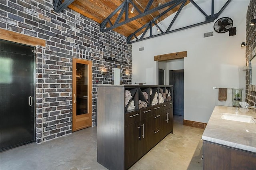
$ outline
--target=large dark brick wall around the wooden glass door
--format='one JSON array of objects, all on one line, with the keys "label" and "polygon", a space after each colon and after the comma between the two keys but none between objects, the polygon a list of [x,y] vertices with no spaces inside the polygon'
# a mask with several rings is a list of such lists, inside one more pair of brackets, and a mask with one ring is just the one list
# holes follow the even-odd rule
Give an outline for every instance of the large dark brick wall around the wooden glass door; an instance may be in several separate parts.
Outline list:
[{"label": "large dark brick wall around the wooden glass door", "polygon": [[[93,63],[93,126],[97,83],[111,84],[112,67],[123,68],[123,84],[132,79],[132,47],[126,37],[101,33],[98,23],[69,8],[54,14],[52,5],[52,0],[0,0],[2,29],[46,40],[46,47],[36,47],[37,143],[72,132],[72,57]],[[102,75],[102,69],[108,73]]]}]

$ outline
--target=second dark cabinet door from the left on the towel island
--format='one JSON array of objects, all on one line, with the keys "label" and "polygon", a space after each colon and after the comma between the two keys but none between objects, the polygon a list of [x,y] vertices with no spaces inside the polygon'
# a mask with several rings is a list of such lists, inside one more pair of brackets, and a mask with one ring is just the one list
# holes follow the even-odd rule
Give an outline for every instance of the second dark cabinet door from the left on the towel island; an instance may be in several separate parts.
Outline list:
[{"label": "second dark cabinet door from the left on the towel island", "polygon": [[140,122],[140,130],[140,148],[141,156],[143,156],[154,146],[151,133],[151,117],[148,117],[147,119],[144,119]]}]

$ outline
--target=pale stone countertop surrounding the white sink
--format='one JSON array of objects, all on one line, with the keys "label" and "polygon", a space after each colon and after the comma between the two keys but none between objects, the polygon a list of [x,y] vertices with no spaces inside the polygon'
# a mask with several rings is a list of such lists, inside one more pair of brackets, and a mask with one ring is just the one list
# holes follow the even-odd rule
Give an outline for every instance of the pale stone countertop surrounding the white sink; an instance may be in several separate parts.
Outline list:
[{"label": "pale stone countertop surrounding the white sink", "polygon": [[223,113],[248,115],[256,118],[256,109],[215,106],[202,134],[202,139],[233,148],[256,152],[256,123],[221,119]]}]

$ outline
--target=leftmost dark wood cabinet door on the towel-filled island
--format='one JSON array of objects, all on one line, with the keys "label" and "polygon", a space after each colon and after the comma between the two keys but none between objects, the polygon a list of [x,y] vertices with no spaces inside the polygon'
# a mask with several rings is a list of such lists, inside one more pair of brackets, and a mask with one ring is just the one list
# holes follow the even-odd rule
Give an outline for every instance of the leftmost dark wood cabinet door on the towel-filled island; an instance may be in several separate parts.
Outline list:
[{"label": "leftmost dark wood cabinet door on the towel-filled island", "polygon": [[125,127],[125,169],[128,169],[140,158],[141,138],[140,122]]}]

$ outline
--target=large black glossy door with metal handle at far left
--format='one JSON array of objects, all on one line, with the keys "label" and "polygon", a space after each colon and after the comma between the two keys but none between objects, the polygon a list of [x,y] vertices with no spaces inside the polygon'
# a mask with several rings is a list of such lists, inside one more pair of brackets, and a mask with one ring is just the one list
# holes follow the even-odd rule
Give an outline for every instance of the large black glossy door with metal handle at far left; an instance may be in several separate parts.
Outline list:
[{"label": "large black glossy door with metal handle at far left", "polygon": [[34,47],[1,40],[1,151],[35,140]]}]

